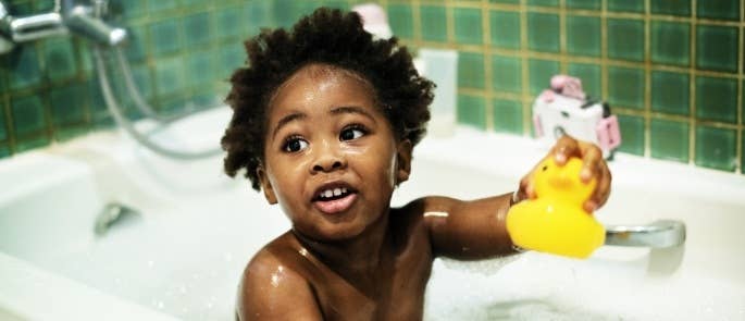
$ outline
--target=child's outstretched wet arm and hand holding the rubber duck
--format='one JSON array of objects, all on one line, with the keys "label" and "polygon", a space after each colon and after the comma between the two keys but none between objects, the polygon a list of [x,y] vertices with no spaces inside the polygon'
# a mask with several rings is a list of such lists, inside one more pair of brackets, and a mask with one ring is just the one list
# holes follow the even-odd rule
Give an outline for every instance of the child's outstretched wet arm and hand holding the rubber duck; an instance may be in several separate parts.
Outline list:
[{"label": "child's outstretched wet arm and hand holding the rubber duck", "polygon": [[[597,187],[584,203],[584,208],[594,211],[606,202],[610,194],[611,177],[603,152],[597,146],[564,136],[546,157],[555,158],[560,165],[571,157],[581,158],[581,180],[597,180]],[[530,184],[535,170],[521,181],[516,194],[517,201],[535,197]],[[412,202],[411,206],[419,207],[424,214],[435,256],[482,259],[514,251],[506,226],[507,212],[511,203],[510,193],[471,201],[427,197]]]}]

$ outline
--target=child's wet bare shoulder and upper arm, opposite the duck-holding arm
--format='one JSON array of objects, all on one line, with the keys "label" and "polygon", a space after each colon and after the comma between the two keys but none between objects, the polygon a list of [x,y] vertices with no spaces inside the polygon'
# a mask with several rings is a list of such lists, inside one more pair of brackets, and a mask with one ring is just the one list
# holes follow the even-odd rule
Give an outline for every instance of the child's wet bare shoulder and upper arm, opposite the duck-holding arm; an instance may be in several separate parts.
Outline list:
[{"label": "child's wet bare shoulder and upper arm, opposite the duck-holding arm", "polygon": [[283,235],[253,256],[238,288],[238,320],[322,320],[308,280],[285,255],[291,250]]}]

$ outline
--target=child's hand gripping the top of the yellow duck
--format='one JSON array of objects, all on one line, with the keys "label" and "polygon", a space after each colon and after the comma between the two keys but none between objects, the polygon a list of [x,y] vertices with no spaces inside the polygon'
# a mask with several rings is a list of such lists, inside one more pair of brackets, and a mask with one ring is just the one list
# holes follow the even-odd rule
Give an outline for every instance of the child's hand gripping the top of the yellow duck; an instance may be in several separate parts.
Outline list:
[{"label": "child's hand gripping the top of the yellow duck", "polygon": [[[597,181],[595,192],[593,192],[593,195],[583,205],[584,210],[592,213],[606,203],[608,196],[610,195],[611,175],[608,170],[608,164],[603,159],[603,151],[600,148],[594,144],[576,140],[564,135],[556,141],[556,145],[551,148],[551,151],[548,152],[545,159],[549,157],[552,157],[560,166],[564,165],[567,160],[571,157],[582,159],[583,166],[580,172],[580,180],[587,183],[594,177]],[[532,183],[536,170],[537,166],[520,181],[517,200],[536,197]]]}]

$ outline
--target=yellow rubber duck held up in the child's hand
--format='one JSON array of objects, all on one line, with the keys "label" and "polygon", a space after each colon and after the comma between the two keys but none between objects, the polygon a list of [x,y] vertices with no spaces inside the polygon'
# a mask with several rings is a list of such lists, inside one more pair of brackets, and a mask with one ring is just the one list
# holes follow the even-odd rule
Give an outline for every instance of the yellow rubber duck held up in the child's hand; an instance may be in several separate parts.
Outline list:
[{"label": "yellow rubber duck held up in the child's hand", "polygon": [[587,258],[601,246],[606,232],[582,203],[597,182],[580,181],[582,160],[571,158],[559,166],[552,158],[539,164],[533,176],[535,199],[510,208],[507,231],[512,242],[526,249],[573,258]]}]

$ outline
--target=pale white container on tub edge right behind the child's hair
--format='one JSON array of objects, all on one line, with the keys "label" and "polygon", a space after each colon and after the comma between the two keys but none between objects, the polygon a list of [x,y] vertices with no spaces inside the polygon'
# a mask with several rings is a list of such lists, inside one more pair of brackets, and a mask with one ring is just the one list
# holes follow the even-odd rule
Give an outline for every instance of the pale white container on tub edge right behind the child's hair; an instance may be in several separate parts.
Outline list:
[{"label": "pale white container on tub edge right behind the child's hair", "polygon": [[435,137],[452,136],[456,127],[458,89],[458,51],[420,49],[414,66],[420,75],[434,82],[435,98],[430,106],[432,119],[427,133]]}]

